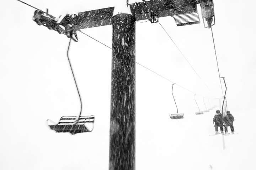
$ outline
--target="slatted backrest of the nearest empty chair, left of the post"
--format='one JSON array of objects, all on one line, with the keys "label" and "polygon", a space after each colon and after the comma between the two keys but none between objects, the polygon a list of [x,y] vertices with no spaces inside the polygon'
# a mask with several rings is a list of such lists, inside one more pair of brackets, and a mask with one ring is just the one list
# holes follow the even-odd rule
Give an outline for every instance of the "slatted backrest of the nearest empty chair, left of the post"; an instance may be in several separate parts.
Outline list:
[{"label": "slatted backrest of the nearest empty chair, left of the post", "polygon": [[[58,125],[74,124],[77,116],[63,116],[60,118]],[[94,116],[80,116],[78,120],[79,124],[94,123]]]}]

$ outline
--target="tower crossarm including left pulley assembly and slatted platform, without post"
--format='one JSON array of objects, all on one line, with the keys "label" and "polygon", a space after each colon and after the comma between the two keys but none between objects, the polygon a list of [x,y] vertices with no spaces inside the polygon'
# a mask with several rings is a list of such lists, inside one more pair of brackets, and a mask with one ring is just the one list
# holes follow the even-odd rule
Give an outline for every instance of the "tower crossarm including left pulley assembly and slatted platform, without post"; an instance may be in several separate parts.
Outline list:
[{"label": "tower crossarm including left pulley assembly and slatted platform, without post", "polygon": [[[173,16],[177,26],[200,23],[197,14],[198,0],[150,0],[129,4],[130,11],[136,21],[149,19],[151,23],[158,22],[158,18]],[[61,21],[41,10],[36,10],[33,20],[38,25],[53,29],[68,38],[78,41],[75,33],[80,29],[107,26],[113,24],[114,7],[79,12],[78,15],[60,17]],[[65,29],[62,29],[63,26]],[[75,35],[75,36],[74,36]]]}]

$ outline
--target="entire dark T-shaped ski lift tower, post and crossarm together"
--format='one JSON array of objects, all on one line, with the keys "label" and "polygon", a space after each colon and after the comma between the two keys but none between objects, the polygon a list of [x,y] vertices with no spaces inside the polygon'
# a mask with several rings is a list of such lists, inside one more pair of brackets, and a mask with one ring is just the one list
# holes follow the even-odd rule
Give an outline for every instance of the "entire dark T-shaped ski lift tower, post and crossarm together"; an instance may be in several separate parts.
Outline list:
[{"label": "entire dark T-shaped ski lift tower, post and crossarm together", "polygon": [[[215,24],[213,0],[150,0],[128,4],[132,14],[113,16],[114,7],[80,12],[55,18],[36,10],[38,25],[78,41],[81,29],[112,25],[112,75],[109,170],[135,169],[135,22],[172,16],[177,26],[200,23],[197,4],[201,5],[206,28]],[[214,21],[214,23],[213,23]],[[204,24],[205,25],[205,24]]]}]

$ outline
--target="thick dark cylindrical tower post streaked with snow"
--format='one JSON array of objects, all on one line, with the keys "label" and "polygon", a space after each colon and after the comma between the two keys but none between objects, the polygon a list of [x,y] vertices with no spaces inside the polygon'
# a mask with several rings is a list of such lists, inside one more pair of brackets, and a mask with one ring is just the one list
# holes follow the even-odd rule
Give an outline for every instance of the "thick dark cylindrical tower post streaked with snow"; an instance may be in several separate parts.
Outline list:
[{"label": "thick dark cylindrical tower post streaked with snow", "polygon": [[109,170],[135,170],[135,17],[113,17]]}]

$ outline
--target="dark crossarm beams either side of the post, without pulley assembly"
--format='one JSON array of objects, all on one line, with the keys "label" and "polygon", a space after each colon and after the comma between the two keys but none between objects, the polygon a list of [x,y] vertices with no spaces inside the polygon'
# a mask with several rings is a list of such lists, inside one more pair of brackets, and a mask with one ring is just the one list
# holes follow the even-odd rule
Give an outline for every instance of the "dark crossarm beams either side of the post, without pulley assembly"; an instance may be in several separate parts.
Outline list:
[{"label": "dark crossarm beams either side of the post, without pulley assembly", "polygon": [[[197,0],[150,0],[129,4],[136,21],[167,17],[197,12]],[[106,26],[112,24],[114,7],[78,13],[79,19],[74,23],[75,30]],[[200,22],[198,22],[200,23]]]}]

